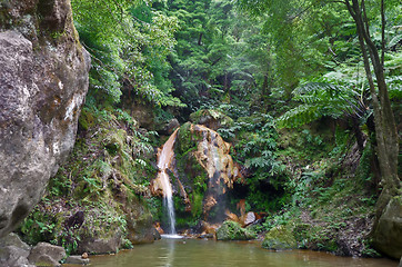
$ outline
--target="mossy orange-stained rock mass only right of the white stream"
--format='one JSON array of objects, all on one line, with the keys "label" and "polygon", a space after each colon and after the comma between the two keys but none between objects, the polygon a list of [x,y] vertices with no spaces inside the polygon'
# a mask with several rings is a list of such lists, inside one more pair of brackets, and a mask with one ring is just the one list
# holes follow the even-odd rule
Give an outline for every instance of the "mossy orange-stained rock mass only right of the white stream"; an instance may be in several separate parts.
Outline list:
[{"label": "mossy orange-stained rock mass only right of the white stream", "polygon": [[[234,181],[242,178],[239,167],[230,156],[230,144],[204,126],[188,122],[178,131],[174,152],[180,175],[177,175],[177,180],[181,181],[188,196],[192,194],[192,197],[189,197],[191,212],[201,215],[204,220],[224,219],[224,206],[219,204],[225,192],[233,188]],[[185,195],[181,196],[185,200]],[[209,217],[212,209],[214,218]]]}]

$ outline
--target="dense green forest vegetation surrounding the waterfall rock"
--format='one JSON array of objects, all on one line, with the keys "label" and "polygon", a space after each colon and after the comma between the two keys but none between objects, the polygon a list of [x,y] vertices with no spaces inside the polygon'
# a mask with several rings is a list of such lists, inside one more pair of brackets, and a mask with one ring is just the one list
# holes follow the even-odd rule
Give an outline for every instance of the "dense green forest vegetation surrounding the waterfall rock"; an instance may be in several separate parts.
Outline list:
[{"label": "dense green forest vegetation surrounding the waterfall rock", "polygon": [[[89,95],[73,156],[20,231],[74,250],[93,227],[125,230],[124,199],[162,219],[147,189],[153,147],[172,118],[214,110],[231,119],[218,132],[247,178],[228,192],[232,211],[245,199],[269,214],[257,233],[293,224],[299,247],[343,255],[333,240],[351,228],[359,255],[376,255],[366,234],[401,194],[402,109],[402,7],[379,2],[72,0]],[[49,201],[101,219],[62,234]]]}]

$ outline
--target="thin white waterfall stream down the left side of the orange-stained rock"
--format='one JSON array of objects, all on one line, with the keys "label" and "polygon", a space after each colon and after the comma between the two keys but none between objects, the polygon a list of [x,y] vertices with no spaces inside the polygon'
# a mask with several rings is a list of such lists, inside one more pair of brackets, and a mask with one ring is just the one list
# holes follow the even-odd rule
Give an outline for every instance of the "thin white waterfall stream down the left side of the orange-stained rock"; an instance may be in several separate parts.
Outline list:
[{"label": "thin white waterfall stream down the left side of the orange-stained rock", "polygon": [[160,180],[162,190],[163,190],[163,205],[167,207],[168,217],[170,222],[170,233],[171,235],[175,235],[175,215],[174,215],[174,206],[173,206],[173,192],[172,185],[169,180],[169,175],[167,170],[169,169],[170,161],[173,158],[173,145],[175,141],[175,136],[178,130],[175,130],[168,139],[168,141],[163,145],[163,148],[158,158],[158,179]]}]

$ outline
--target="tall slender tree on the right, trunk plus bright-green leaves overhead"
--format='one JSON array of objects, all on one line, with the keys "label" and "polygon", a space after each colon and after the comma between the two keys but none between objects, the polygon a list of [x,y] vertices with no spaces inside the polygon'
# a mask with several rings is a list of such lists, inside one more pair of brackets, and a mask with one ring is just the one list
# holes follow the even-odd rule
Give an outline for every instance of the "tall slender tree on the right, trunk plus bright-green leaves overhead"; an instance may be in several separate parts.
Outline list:
[{"label": "tall slender tree on the right, trunk plus bright-green leaves overhead", "polygon": [[[310,33],[314,34],[304,36],[304,39],[313,39],[314,36],[319,38],[328,37],[329,29],[331,29],[328,26],[333,27],[333,23],[326,23],[331,19],[331,12],[339,14],[348,12],[353,19],[374,113],[375,147],[382,186],[376,210],[376,218],[379,219],[389,200],[400,194],[401,190],[401,179],[398,175],[398,132],[384,73],[384,55],[386,48],[384,0],[370,1],[370,3],[364,0],[239,0],[238,3],[242,9],[250,11],[254,16],[265,16],[267,24],[269,26],[268,30],[271,31],[273,38],[278,38],[278,40],[294,40],[298,34],[294,29],[300,29],[299,32],[303,34],[309,33],[309,30],[306,30],[309,23],[320,21],[323,13],[328,16],[323,18],[323,23],[319,28],[321,32],[311,31]],[[388,1],[388,3],[389,8],[398,6],[398,1]],[[375,13],[369,12],[371,10],[380,11],[380,19]],[[380,26],[381,29],[380,40],[376,40],[372,32],[370,32],[371,27],[373,27],[370,22],[373,21],[379,21],[376,24]],[[348,21],[343,18],[340,22],[345,24]],[[278,42],[278,40],[275,40],[277,46],[284,44],[284,42]],[[329,41],[331,42],[333,40]],[[303,42],[294,43],[301,44]],[[283,49],[283,47],[280,49]],[[285,50],[294,51],[295,48],[285,48]],[[301,58],[301,60],[305,60],[305,58]]]}]

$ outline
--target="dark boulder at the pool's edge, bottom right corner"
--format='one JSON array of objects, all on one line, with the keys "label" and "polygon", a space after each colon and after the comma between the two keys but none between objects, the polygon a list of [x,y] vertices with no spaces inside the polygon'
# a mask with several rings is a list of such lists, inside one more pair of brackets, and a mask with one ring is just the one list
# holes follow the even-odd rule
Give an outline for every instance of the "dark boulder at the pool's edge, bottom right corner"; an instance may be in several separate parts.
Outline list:
[{"label": "dark boulder at the pool's edge, bottom right corner", "polygon": [[402,196],[386,205],[374,229],[373,246],[392,258],[402,257]]}]

